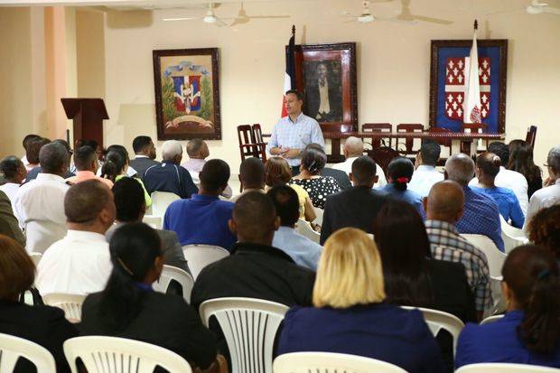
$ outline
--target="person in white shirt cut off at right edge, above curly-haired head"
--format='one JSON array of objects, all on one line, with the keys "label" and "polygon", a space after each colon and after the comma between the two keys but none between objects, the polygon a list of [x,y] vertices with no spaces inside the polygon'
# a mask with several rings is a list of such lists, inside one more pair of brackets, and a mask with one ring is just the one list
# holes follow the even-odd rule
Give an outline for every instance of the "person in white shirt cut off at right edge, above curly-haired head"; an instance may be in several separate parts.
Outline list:
[{"label": "person in white shirt cut off at right edge, above curly-haired head", "polygon": [[526,226],[538,211],[560,204],[560,145],[550,149],[546,163],[550,186],[536,191],[531,197],[525,218]]}]

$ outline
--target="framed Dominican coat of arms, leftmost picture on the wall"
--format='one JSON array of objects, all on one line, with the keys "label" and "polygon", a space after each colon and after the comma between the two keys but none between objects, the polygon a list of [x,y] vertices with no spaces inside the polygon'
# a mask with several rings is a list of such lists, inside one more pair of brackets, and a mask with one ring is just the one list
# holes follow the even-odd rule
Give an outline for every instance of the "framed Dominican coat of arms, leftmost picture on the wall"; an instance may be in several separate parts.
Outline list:
[{"label": "framed Dominican coat of arms, leftmost picture on the wall", "polygon": [[157,139],[220,140],[218,48],[153,56]]}]

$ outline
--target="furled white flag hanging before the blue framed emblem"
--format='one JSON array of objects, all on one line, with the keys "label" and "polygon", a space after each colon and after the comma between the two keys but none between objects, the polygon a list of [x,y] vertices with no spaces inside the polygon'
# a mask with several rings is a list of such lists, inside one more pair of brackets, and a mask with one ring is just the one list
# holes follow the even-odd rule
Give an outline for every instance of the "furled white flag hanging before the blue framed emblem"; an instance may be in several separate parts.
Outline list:
[{"label": "furled white flag hanging before the blue framed emblem", "polygon": [[465,70],[467,83],[464,102],[463,123],[481,123],[481,82],[479,78],[479,51],[476,43],[476,28],[472,37],[469,68]]}]

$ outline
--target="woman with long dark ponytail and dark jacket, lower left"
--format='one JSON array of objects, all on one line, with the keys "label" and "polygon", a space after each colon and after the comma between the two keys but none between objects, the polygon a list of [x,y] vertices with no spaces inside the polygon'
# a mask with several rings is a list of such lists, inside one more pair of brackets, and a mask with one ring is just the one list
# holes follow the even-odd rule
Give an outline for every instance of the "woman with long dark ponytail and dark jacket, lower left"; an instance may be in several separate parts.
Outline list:
[{"label": "woman with long dark ponytail and dark jacket, lower left", "polygon": [[182,297],[154,292],[163,270],[160,238],[143,223],[117,228],[109,243],[113,271],[105,290],[82,305],[82,335],[142,340],[181,355],[191,365],[208,368],[217,341],[199,314]]}]

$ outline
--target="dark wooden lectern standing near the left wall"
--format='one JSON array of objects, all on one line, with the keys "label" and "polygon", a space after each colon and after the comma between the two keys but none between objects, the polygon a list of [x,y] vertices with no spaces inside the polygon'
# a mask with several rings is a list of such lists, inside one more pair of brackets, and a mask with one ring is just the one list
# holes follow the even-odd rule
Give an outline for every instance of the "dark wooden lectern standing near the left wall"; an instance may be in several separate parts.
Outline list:
[{"label": "dark wooden lectern standing near the left wall", "polygon": [[[74,138],[95,140],[103,146],[103,119],[108,119],[102,98],[61,98],[66,117],[74,122]],[[70,145],[70,146],[71,146]]]}]

